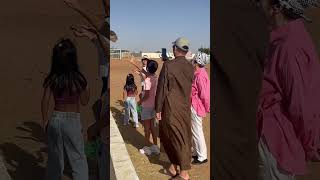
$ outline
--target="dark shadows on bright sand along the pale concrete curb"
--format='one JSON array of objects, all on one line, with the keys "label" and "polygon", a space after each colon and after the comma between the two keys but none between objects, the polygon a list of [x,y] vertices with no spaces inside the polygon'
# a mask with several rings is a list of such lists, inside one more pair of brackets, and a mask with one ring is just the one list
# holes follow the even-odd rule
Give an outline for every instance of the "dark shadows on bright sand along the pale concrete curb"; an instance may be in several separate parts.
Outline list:
[{"label": "dark shadows on bright sand along the pale concrete curb", "polygon": [[[118,100],[117,105],[120,107],[124,107],[124,102],[122,100]],[[116,120],[118,129],[125,143],[133,145],[134,147],[137,148],[137,151],[140,148],[144,147],[145,146],[144,135],[138,132],[133,127],[123,126],[124,111],[121,111],[119,110],[119,108],[116,108],[116,107],[110,107],[110,110],[112,112],[114,119]],[[149,162],[152,164],[158,164],[163,167],[167,167],[170,164],[168,161],[162,160],[163,158],[160,158],[159,155],[158,156],[151,155],[147,157],[149,159]]]}]

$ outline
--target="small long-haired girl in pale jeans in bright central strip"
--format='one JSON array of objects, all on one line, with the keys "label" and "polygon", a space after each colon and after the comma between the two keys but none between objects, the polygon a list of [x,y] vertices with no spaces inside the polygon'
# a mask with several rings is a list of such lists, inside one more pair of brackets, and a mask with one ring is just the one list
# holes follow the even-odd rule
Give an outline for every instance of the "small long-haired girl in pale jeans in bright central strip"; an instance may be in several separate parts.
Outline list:
[{"label": "small long-haired girl in pale jeans in bright central strip", "polygon": [[138,94],[137,86],[134,82],[134,76],[132,74],[127,75],[126,84],[123,88],[123,101],[125,105],[125,116],[123,125],[128,125],[130,112],[133,117],[134,127],[139,127],[138,124],[138,112],[137,112],[137,103],[136,95]]}]

